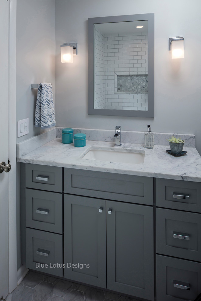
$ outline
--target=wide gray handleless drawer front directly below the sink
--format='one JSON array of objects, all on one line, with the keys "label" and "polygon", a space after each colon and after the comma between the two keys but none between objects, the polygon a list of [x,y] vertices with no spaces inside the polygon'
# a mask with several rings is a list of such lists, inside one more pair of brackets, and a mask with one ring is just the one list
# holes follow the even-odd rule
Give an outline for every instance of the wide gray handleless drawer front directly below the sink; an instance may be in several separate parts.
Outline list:
[{"label": "wide gray handleless drawer front directly below the sink", "polygon": [[153,178],[64,168],[64,192],[153,205]]}]

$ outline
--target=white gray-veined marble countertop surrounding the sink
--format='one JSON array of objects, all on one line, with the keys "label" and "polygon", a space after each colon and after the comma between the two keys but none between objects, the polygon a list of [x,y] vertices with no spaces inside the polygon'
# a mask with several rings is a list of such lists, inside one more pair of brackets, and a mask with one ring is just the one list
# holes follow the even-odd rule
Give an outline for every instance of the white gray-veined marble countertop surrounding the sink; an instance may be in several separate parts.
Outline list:
[{"label": "white gray-veined marble countertop surrounding the sink", "polygon": [[[122,146],[115,146],[114,142],[87,140],[85,147],[74,147],[73,144],[62,144],[61,138],[54,138],[44,145],[38,145],[35,150],[29,149],[29,152],[24,153],[20,151],[19,145],[17,145],[18,162],[201,182],[201,157],[195,147],[184,147],[183,150],[188,153],[174,157],[166,152],[166,149],[169,149],[166,145],[155,145],[149,150],[142,144],[122,143]],[[94,147],[140,150],[145,152],[144,163],[128,164],[82,159],[83,154]]]}]

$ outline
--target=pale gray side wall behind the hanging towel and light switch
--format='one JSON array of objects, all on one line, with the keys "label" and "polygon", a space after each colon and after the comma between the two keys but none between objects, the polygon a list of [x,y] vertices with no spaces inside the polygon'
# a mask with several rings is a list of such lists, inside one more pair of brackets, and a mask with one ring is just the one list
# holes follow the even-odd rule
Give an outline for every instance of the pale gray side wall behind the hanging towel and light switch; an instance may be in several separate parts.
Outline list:
[{"label": "pale gray side wall behind the hanging towel and light switch", "polygon": [[31,84],[50,82],[55,99],[55,0],[17,0],[16,121],[29,118],[29,134],[17,143],[41,133],[34,126],[37,89]]}]

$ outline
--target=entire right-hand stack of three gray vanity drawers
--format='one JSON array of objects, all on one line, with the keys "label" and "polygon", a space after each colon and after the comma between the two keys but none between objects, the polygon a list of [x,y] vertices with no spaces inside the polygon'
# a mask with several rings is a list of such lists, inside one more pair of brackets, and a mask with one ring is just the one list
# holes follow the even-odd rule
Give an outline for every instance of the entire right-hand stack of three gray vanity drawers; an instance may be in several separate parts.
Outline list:
[{"label": "entire right-hand stack of three gray vanity drawers", "polygon": [[156,179],[157,301],[193,301],[201,292],[200,198],[201,183]]}]

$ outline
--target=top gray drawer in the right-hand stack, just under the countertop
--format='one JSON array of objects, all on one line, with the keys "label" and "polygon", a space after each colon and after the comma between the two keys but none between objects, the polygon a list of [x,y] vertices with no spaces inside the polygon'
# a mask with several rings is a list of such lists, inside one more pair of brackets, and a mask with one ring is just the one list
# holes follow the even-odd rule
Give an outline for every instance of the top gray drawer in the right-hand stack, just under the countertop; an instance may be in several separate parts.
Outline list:
[{"label": "top gray drawer in the right-hand stack, just under the countertop", "polygon": [[156,206],[201,212],[201,183],[156,178]]}]

